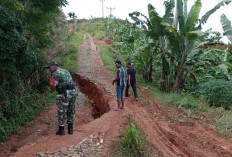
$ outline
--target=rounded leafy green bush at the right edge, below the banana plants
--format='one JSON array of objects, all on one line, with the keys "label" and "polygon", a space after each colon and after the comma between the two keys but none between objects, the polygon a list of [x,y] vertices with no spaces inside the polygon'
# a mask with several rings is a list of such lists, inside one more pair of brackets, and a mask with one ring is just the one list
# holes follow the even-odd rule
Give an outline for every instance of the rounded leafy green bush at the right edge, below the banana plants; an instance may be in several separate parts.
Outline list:
[{"label": "rounded leafy green bush at the right edge, below the banana plants", "polygon": [[203,97],[211,106],[229,109],[232,104],[232,82],[210,80],[199,85],[197,95]]}]

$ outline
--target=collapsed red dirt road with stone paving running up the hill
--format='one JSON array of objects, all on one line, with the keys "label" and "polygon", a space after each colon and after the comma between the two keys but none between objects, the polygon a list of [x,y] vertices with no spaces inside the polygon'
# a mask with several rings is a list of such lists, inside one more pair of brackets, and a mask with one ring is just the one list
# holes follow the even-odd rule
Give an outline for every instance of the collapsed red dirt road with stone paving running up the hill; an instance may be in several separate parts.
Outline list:
[{"label": "collapsed red dirt road with stone paving running up the hill", "polygon": [[[136,102],[133,97],[130,97],[125,100],[124,110],[113,111],[112,109],[116,108],[115,87],[111,85],[114,73],[107,70],[101,61],[98,47],[102,43],[104,41],[94,41],[89,34],[85,33],[83,44],[79,47],[79,70],[77,74],[74,74],[74,79],[79,83],[81,91],[91,100],[94,113],[98,113],[101,117],[88,123],[76,124],[73,135],[56,136],[53,133],[40,137],[34,143],[21,147],[13,154],[14,157],[36,156],[37,152],[46,152],[50,153],[50,156],[55,156],[54,152],[59,152],[61,148],[81,145],[83,141],[92,140],[93,135],[99,135],[104,141],[98,156],[111,156],[110,150],[119,139],[120,131],[125,129],[128,115],[135,117],[135,121],[146,134],[147,140],[156,151],[154,156],[232,156],[231,142],[197,120],[189,118],[181,110],[157,104],[143,87],[138,87],[138,90],[145,102]],[[83,116],[81,113],[78,114],[78,118]],[[177,120],[170,115],[179,115],[183,120]],[[91,152],[82,153],[80,156],[97,156]]]}]

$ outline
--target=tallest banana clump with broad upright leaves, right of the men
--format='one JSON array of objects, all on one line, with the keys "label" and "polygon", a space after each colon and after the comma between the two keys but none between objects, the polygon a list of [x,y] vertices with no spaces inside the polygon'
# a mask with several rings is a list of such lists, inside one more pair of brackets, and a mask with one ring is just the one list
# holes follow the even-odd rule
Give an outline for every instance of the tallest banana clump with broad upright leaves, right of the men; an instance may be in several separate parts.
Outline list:
[{"label": "tallest banana clump with broad upright leaves, right of the men", "polygon": [[[201,25],[217,9],[231,0],[224,0],[209,10],[199,21],[202,7],[201,0],[196,0],[189,12],[187,12],[187,0],[165,1],[166,12],[160,17],[155,8],[149,4],[149,18],[141,22],[138,16],[141,13],[131,14],[133,20],[144,28],[144,33],[154,40],[159,41],[162,59],[161,89],[165,91],[177,91],[183,87],[187,71],[185,63],[188,54],[199,47],[205,41],[206,33],[201,31]],[[174,12],[175,6],[175,14]],[[175,17],[173,17],[175,15]],[[145,25],[145,26],[144,26]]]}]

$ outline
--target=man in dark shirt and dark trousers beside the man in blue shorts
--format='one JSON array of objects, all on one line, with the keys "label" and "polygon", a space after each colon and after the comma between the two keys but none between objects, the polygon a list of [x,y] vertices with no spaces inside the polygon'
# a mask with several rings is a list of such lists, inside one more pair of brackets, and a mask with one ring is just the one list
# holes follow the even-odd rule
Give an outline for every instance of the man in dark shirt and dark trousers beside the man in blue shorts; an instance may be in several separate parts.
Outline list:
[{"label": "man in dark shirt and dark trousers beside the man in blue shorts", "polygon": [[130,86],[133,89],[135,100],[138,101],[138,94],[136,90],[136,70],[131,66],[131,63],[127,63],[127,86],[125,96],[128,97],[128,90]]}]

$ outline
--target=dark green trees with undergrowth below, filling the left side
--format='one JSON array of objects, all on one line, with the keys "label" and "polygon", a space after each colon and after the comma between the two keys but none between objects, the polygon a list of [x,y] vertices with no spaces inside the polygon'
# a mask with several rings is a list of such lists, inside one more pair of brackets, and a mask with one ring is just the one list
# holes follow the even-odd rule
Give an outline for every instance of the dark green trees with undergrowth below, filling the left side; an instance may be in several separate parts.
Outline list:
[{"label": "dark green trees with undergrowth below, filling the left side", "polygon": [[[3,0],[0,6],[0,142],[54,102],[42,53],[54,45],[66,0]],[[16,144],[12,150],[17,149]]]}]

